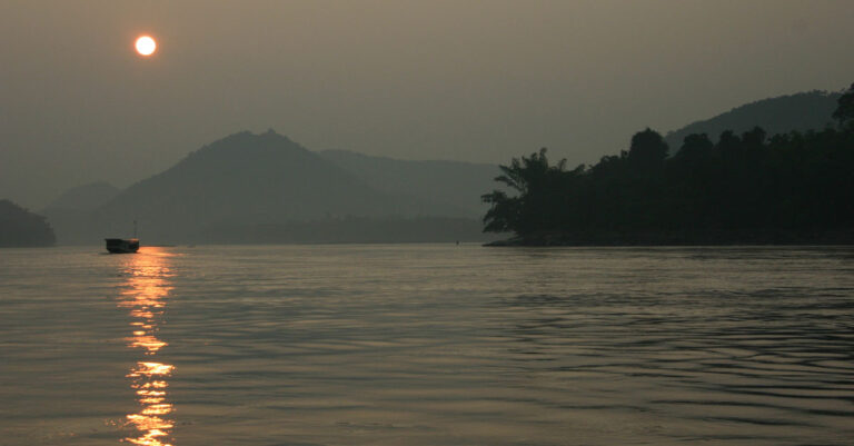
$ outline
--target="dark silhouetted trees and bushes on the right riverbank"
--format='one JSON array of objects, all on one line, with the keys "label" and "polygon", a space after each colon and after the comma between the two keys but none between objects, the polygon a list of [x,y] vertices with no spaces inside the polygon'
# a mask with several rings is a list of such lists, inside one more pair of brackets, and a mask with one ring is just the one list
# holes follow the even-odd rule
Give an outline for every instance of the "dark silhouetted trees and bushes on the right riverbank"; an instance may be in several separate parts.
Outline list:
[{"label": "dark silhouetted trees and bushes on the right riverbank", "polygon": [[694,133],[671,158],[646,129],[595,166],[550,165],[546,149],[513,159],[496,178],[512,191],[483,196],[484,230],[529,244],[854,241],[852,98],[854,86],[837,128]]}]

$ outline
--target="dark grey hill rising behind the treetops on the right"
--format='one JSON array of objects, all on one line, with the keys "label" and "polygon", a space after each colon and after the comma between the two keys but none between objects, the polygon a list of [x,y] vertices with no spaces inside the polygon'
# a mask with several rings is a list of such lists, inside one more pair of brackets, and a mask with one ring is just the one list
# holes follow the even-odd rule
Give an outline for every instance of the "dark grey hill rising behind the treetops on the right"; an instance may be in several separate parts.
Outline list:
[{"label": "dark grey hill rising behind the treetops on the right", "polygon": [[692,133],[706,133],[713,142],[725,130],[741,135],[754,127],[763,128],[768,136],[790,131],[821,130],[833,122],[833,111],[842,93],[810,91],[779,96],[736,107],[714,118],[689,123],[668,132],[665,141],[671,153],[676,152],[683,139]]}]

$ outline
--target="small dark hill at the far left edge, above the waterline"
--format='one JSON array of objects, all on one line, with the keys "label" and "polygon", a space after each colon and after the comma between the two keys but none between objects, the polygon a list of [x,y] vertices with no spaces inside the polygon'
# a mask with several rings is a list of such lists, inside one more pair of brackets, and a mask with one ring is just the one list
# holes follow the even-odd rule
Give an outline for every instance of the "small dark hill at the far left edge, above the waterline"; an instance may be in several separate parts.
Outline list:
[{"label": "small dark hill at the far left edge, above the waterline", "polygon": [[52,246],[54,242],[53,229],[44,217],[0,200],[0,247]]}]

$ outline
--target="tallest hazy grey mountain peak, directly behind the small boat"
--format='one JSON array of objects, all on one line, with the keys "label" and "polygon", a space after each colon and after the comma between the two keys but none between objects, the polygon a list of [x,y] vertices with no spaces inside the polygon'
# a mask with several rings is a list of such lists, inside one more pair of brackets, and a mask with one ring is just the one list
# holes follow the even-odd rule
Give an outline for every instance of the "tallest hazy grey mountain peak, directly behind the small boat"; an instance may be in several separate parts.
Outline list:
[{"label": "tallest hazy grey mountain peak, directly behind the small boat", "polygon": [[145,240],[199,242],[244,240],[246,235],[237,232],[259,226],[287,230],[286,224],[297,222],[463,214],[453,205],[378,191],[270,130],[240,132],[202,147],[121,191],[81,222],[87,230],[60,241],[127,237],[133,220]]}]

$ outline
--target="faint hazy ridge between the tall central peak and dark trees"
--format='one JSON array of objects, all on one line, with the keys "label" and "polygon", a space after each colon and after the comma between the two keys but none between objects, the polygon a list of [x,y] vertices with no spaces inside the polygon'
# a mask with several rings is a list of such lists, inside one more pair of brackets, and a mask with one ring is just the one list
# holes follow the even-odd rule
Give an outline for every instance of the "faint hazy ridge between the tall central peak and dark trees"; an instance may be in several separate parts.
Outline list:
[{"label": "faint hazy ridge between the tall central peak and dark trees", "polygon": [[400,194],[437,205],[450,205],[466,217],[479,217],[478,198],[498,174],[498,166],[460,161],[409,161],[348,150],[325,150],[324,158],[385,194]]}]

